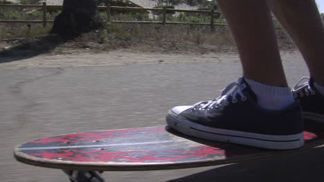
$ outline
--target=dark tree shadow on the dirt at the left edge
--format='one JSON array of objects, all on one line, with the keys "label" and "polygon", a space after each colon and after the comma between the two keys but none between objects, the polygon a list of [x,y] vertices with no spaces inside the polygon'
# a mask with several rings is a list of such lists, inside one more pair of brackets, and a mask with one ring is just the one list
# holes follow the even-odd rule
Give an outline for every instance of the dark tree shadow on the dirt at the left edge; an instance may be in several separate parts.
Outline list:
[{"label": "dark tree shadow on the dirt at the left edge", "polygon": [[36,57],[54,50],[58,45],[64,43],[57,34],[48,34],[44,37],[27,38],[20,40],[6,50],[0,50],[0,63],[9,63]]}]

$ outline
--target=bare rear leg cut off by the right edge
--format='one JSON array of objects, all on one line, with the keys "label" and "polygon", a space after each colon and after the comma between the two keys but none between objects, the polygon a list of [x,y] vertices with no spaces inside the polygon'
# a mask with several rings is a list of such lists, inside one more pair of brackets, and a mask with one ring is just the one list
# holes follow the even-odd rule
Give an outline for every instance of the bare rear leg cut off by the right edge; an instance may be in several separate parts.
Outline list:
[{"label": "bare rear leg cut off by the right edge", "polygon": [[268,0],[298,46],[316,83],[324,85],[324,26],[314,0]]}]

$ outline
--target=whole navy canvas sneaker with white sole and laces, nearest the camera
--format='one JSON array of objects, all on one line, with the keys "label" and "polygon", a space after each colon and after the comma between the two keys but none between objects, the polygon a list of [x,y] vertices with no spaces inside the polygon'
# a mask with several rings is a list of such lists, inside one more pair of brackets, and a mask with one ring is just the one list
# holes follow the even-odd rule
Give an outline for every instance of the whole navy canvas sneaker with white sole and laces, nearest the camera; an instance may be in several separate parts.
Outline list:
[{"label": "whole navy canvas sneaker with white sole and laces, nearest the camera", "polygon": [[172,108],[166,121],[178,132],[211,141],[276,150],[304,144],[298,101],[285,110],[264,110],[243,78],[228,85],[215,100]]}]

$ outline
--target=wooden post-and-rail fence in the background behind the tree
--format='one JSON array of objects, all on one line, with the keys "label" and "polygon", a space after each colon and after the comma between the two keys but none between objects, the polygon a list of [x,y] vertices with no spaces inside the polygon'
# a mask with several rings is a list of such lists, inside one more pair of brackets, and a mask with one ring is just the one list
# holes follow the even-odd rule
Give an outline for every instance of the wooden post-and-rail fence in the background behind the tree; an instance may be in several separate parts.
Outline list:
[{"label": "wooden post-and-rail fence in the background behind the tree", "polygon": [[[46,17],[48,9],[62,10],[63,6],[48,6],[46,3],[42,5],[12,5],[12,4],[0,4],[1,7],[11,7],[11,8],[38,8],[43,11],[42,20],[1,20],[0,23],[43,23],[44,28],[46,28],[48,23],[53,23],[53,20],[49,20]],[[210,26],[214,28],[215,26],[227,26],[226,23],[222,23],[222,13],[215,10],[179,10],[179,9],[168,9],[168,8],[134,8],[134,7],[122,7],[122,6],[110,6],[110,3],[107,3],[107,6],[98,6],[99,10],[105,10],[107,12],[107,21],[111,23],[156,23],[156,24],[190,24],[190,25],[199,25],[199,26]],[[111,21],[111,11],[112,10],[132,10],[132,11],[152,11],[152,12],[162,12],[163,19],[162,21]],[[210,23],[191,23],[191,22],[170,22],[166,21],[167,12],[190,12],[190,13],[201,13],[209,14]],[[220,14],[220,21],[215,23],[215,14]]]}]

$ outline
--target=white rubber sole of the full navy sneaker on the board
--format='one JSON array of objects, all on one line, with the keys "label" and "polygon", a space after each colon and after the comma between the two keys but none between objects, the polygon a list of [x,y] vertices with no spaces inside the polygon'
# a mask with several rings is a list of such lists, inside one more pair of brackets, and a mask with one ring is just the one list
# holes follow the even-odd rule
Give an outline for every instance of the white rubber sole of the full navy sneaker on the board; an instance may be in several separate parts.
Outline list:
[{"label": "white rubber sole of the full navy sneaker on the board", "polygon": [[172,112],[172,110],[169,110],[166,121],[171,128],[178,132],[210,141],[236,143],[274,150],[291,150],[304,145],[303,132],[291,135],[269,135],[210,128],[188,121]]}]

